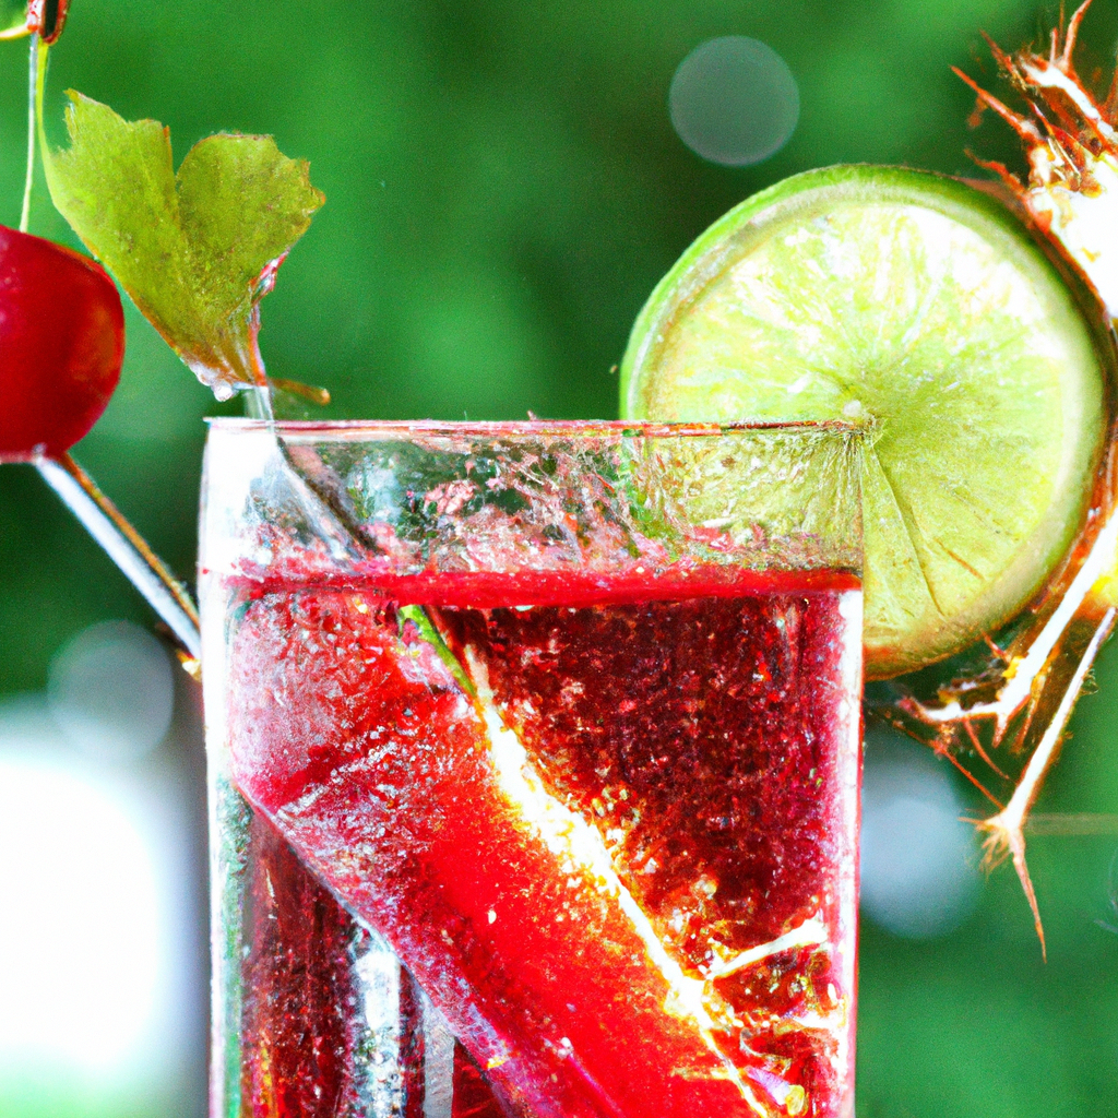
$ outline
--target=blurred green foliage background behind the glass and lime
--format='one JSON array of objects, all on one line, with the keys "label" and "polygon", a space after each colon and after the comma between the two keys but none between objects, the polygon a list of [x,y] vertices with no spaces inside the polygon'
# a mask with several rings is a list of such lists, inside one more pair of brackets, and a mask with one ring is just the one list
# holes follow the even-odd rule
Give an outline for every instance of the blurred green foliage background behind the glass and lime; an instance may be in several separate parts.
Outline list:
[{"label": "blurred green foliage background behind the glass and lime", "polygon": [[[1084,74],[1115,54],[1118,10],[1097,9]],[[1055,18],[1033,0],[74,0],[51,58],[49,130],[60,140],[63,91],[74,87],[168,124],[177,158],[224,129],[272,133],[311,161],[328,202],[264,304],[262,345],[274,376],[330,388],[329,415],[610,417],[614,367],[643,301],[746,196],[833,162],[980,176],[968,146],[1020,167],[996,122],[968,131],[973,98],[949,66],[992,83],[979,30],[1017,46]],[[681,60],[724,35],[767,42],[799,88],[792,140],[746,169],[692,154],[667,112]],[[9,225],[23,173],[25,46],[0,44]],[[41,184],[31,228],[68,239]],[[218,408],[131,307],[127,328],[120,391],[75,453],[188,574],[201,419],[230,406]],[[58,650],[105,618],[151,624],[37,475],[0,470],[0,695],[41,692]],[[1118,813],[1118,648],[1102,657],[1098,690],[1076,716],[1044,812]],[[180,708],[177,771],[197,850],[200,747],[186,689]],[[1030,851],[1046,965],[1006,869],[942,935],[902,938],[865,921],[861,1118],[1118,1111],[1118,932],[1103,927],[1118,927],[1118,836],[1038,835]],[[18,916],[17,899],[0,900],[0,920]],[[9,1070],[0,1112],[197,1118],[201,1033],[188,1034],[173,1082],[117,1090],[63,1069],[30,1087]]]}]

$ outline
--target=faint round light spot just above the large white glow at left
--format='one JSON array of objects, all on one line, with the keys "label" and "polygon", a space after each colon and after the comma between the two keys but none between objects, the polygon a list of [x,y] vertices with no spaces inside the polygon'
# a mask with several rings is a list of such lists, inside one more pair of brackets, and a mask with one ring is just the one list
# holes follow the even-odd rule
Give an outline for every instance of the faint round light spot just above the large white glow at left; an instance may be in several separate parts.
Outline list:
[{"label": "faint round light spot just above the large white glow at left", "polygon": [[104,760],[130,760],[167,736],[174,678],[151,634],[129,622],[102,622],[55,656],[48,698],[73,745]]}]

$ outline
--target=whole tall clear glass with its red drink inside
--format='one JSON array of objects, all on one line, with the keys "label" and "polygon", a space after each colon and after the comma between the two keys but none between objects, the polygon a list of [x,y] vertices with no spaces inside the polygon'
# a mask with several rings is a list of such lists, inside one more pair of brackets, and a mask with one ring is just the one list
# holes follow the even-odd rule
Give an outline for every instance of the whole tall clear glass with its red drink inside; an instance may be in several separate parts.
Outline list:
[{"label": "whole tall clear glass with its red drink inside", "polygon": [[853,1114],[859,453],[214,424],[212,1118]]}]

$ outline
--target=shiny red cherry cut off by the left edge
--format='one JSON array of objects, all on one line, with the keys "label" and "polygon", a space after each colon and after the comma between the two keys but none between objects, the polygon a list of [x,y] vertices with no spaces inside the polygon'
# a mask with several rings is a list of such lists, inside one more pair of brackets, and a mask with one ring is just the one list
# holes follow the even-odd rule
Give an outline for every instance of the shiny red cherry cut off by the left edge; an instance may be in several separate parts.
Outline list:
[{"label": "shiny red cherry cut off by the left edge", "polygon": [[0,226],[0,462],[58,457],[121,378],[124,311],[100,264]]}]

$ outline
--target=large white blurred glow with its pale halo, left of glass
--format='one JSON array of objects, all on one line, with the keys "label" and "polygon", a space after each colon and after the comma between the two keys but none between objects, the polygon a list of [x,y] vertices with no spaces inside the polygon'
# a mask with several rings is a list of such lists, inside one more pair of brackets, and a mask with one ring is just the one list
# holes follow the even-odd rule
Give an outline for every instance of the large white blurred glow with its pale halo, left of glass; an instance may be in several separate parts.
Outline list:
[{"label": "large white blurred glow with its pale halo, left of glass", "polygon": [[[174,767],[155,754],[138,769],[138,739],[91,749],[60,722],[46,695],[0,701],[0,1111],[17,1114],[22,1099],[76,1112],[85,1098],[164,1090],[197,1025]],[[150,750],[165,724],[145,724]],[[110,718],[100,740],[115,732]]]}]

